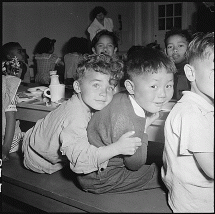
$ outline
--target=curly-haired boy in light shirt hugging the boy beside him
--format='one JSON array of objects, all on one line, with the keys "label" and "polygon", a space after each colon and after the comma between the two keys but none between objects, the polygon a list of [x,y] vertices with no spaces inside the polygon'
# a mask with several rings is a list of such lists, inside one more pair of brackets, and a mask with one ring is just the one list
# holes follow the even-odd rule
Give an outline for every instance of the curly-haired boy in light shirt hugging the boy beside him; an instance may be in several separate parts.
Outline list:
[{"label": "curly-haired boy in light shirt hugging the boy beside him", "polygon": [[122,69],[121,61],[107,55],[83,56],[73,83],[75,94],[26,132],[22,147],[26,168],[51,174],[69,160],[75,173],[90,173],[105,168],[115,155],[135,152],[141,142],[130,138],[131,132],[101,148],[90,145],[87,138],[92,114],[112,100]]}]

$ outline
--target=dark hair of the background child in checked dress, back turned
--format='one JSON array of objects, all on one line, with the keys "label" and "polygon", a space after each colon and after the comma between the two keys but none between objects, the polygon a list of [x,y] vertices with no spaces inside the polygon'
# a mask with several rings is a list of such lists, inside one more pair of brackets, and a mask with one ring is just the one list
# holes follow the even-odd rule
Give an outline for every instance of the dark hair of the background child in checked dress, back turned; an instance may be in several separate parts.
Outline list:
[{"label": "dark hair of the background child in checked dress, back turned", "polygon": [[49,53],[49,51],[54,46],[56,42],[55,39],[49,39],[47,37],[42,38],[36,45],[34,49],[34,54],[42,54],[42,53]]}]

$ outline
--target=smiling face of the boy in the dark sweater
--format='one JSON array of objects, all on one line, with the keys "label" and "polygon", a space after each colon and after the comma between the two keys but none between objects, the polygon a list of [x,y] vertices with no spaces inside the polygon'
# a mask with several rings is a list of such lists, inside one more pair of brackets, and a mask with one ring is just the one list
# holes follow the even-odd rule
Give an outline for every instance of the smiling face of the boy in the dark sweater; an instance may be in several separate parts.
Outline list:
[{"label": "smiling face of the boy in the dark sweater", "polygon": [[[156,113],[162,106],[169,102],[173,96],[173,73],[167,73],[165,68],[160,68],[158,73],[144,73],[135,76],[125,87],[136,102],[150,113]],[[125,81],[125,82],[126,82]]]}]

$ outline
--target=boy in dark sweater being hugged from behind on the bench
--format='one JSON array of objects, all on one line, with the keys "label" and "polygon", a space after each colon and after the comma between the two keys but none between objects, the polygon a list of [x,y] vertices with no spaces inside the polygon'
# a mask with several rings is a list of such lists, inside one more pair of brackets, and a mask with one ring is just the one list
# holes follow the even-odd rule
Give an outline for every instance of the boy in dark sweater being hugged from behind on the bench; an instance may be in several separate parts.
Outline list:
[{"label": "boy in dark sweater being hugged from behind on the bench", "polygon": [[126,62],[127,78],[122,91],[92,117],[88,126],[90,144],[112,145],[127,131],[135,131],[142,146],[134,155],[109,160],[105,170],[78,175],[83,190],[93,193],[134,192],[160,187],[155,164],[146,165],[147,127],[173,95],[174,63],[162,52],[138,48]]}]

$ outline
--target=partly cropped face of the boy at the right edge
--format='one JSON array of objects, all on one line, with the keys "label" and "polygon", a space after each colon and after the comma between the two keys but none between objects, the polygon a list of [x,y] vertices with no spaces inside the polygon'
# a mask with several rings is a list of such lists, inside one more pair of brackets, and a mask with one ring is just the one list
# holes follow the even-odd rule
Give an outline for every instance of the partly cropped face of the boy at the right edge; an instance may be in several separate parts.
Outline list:
[{"label": "partly cropped face of the boy at the right edge", "polygon": [[197,87],[196,93],[206,100],[214,99],[214,52],[211,51],[210,56],[205,59],[196,59],[193,67]]}]

